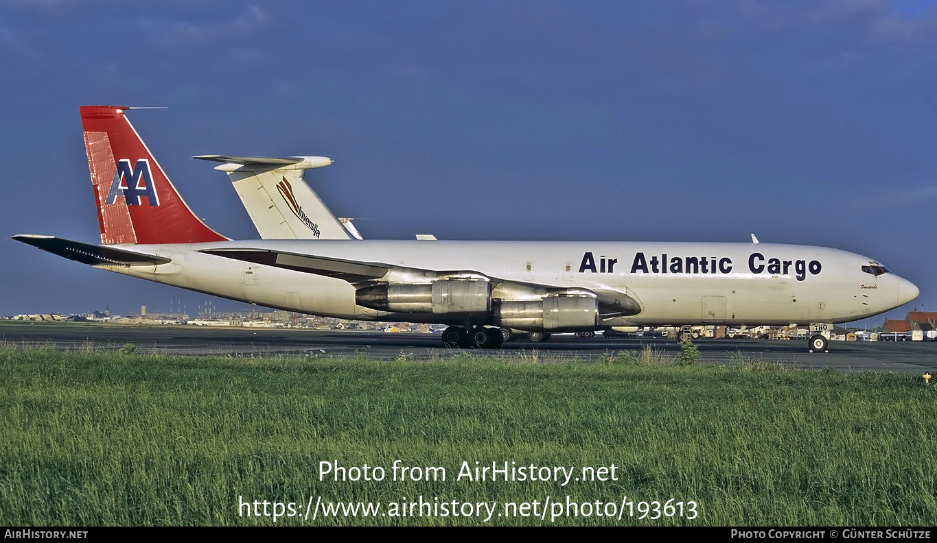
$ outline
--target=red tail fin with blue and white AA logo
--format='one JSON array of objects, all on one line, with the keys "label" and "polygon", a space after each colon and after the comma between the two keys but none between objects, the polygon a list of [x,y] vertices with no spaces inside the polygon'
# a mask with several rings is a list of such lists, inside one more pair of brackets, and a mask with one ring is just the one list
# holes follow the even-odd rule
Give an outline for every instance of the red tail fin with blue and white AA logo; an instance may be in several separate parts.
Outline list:
[{"label": "red tail fin with blue and white AA logo", "polygon": [[102,243],[227,240],[188,209],[124,116],[126,108],[82,107],[84,148]]}]

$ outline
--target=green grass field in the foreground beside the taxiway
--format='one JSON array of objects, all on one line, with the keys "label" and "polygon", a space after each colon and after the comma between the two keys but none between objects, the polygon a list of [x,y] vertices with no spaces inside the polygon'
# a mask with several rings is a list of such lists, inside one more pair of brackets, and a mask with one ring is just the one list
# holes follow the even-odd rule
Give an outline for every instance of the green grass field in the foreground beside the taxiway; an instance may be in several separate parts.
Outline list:
[{"label": "green grass field in the foreground beside the taxiway", "polygon": [[[0,523],[550,524],[558,503],[560,525],[937,519],[937,390],[919,378],[673,365],[654,353],[603,361],[0,349]],[[322,461],[381,466],[385,477],[320,481]],[[444,467],[446,479],[394,481],[394,461]],[[459,480],[462,462],[573,466],[575,477],[614,464],[617,480]],[[317,506],[314,521],[304,518],[310,496],[381,508],[350,517]],[[432,516],[399,506],[419,496],[437,506]],[[695,502],[696,518],[687,508],[637,518],[642,501],[670,499]],[[248,516],[239,500],[267,500],[270,513],[273,502],[294,503],[298,516]],[[567,500],[589,503],[589,515],[584,506],[573,515]],[[621,519],[599,516],[597,501]],[[494,512],[442,516],[440,503]],[[505,503],[518,513],[505,516]]]}]

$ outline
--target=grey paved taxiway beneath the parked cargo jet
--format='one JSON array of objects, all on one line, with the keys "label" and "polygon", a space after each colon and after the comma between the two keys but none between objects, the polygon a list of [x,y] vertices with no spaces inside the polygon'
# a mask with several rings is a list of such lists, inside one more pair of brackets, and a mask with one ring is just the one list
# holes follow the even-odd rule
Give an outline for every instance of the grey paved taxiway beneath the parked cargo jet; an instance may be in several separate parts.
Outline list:
[{"label": "grey paved taxiway beneath the parked cargo jet", "polygon": [[[6,345],[55,348],[119,348],[132,343],[143,352],[169,355],[315,356],[346,357],[364,353],[374,360],[394,360],[403,353],[410,360],[448,357],[439,334],[387,333],[379,331],[282,330],[201,327],[121,327],[111,325],[5,324],[0,341]],[[674,340],[663,338],[576,338],[555,335],[547,343],[506,343],[496,350],[472,350],[472,354],[526,355],[536,349],[541,359],[579,357],[598,359],[606,351],[641,349],[650,345],[667,353],[679,350]],[[802,368],[833,368],[845,372],[876,371],[902,374],[934,373],[937,342],[830,342],[829,353],[810,354],[804,341],[701,340],[700,358],[706,363],[729,364],[738,353],[754,359],[777,361]]]}]

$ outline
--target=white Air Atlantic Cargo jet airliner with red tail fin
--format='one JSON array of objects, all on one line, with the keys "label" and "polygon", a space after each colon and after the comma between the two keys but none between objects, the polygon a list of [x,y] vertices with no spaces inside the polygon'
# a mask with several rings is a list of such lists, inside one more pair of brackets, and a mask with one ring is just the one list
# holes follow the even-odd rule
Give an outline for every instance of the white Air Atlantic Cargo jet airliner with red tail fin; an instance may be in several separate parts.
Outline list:
[{"label": "white Air Atlantic Cargo jet airliner with red tail fin", "polygon": [[[463,347],[499,346],[497,327],[546,337],[618,326],[840,323],[918,295],[915,285],[869,257],[807,245],[234,241],[191,212],[126,110],[81,108],[101,244],[32,234],[13,239],[231,300],[309,315],[447,324],[443,343]],[[236,168],[229,160],[236,157],[224,158]],[[273,174],[331,163],[264,160],[246,162]],[[808,345],[825,351],[827,340],[816,334]]]}]

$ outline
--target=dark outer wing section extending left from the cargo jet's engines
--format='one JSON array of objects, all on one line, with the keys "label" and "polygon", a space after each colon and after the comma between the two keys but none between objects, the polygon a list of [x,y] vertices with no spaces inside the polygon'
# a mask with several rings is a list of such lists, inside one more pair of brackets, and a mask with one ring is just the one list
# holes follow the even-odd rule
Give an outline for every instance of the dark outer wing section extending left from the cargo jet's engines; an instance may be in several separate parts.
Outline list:
[{"label": "dark outer wing section extending left from the cargo jet's engines", "polygon": [[391,269],[386,264],[356,262],[339,258],[311,257],[258,249],[205,249],[201,252],[217,255],[218,257],[254,262],[264,266],[335,277],[349,283],[380,279]]}]

